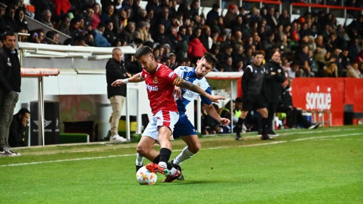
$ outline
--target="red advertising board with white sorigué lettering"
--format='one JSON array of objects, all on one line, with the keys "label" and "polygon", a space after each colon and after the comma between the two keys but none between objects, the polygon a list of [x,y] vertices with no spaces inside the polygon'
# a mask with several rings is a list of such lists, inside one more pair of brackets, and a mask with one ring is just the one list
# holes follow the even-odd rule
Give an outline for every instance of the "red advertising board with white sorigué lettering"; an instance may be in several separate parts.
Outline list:
[{"label": "red advertising board with white sorigu\u00e9 lettering", "polygon": [[[329,110],[333,125],[343,125],[344,78],[295,78],[291,88],[295,107]],[[329,115],[325,118],[327,121]]]}]

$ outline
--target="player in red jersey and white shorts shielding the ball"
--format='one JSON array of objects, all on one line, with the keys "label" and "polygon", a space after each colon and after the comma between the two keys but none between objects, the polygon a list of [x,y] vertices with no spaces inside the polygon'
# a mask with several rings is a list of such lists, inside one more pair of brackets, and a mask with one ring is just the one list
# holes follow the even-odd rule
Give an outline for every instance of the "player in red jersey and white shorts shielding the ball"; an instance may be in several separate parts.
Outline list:
[{"label": "player in red jersey and white shorts shielding the ball", "polygon": [[[218,102],[218,100],[225,98],[206,93],[193,83],[184,81],[167,66],[158,64],[152,54],[152,49],[148,46],[138,48],[135,57],[143,68],[142,72],[128,79],[118,79],[112,83],[112,86],[145,81],[153,117],[145,128],[136,150],[138,154],[145,155],[147,159],[153,161],[153,163],[146,165],[149,171],[159,172],[164,175],[175,174],[170,170],[179,170],[167,166],[172,150],[169,138],[172,135],[175,123],[179,119],[178,107],[173,95],[174,87],[180,86],[199,93],[212,102]],[[155,140],[160,144],[159,154],[151,150]]]}]

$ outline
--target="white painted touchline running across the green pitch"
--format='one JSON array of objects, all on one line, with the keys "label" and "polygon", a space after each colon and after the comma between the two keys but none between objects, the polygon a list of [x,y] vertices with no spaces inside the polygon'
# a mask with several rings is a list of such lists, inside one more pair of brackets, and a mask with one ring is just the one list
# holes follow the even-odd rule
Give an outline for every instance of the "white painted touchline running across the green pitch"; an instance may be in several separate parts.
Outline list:
[{"label": "white painted touchline running across the green pitch", "polygon": [[[335,138],[335,137],[345,137],[345,136],[355,136],[355,135],[363,135],[363,133],[351,133],[351,134],[330,135],[330,136],[317,136],[317,137],[310,137],[310,138],[294,139],[294,140],[290,140],[290,141],[282,140],[282,141],[276,141],[276,142],[259,143],[259,144],[246,144],[246,145],[239,145],[239,146],[210,147],[210,148],[204,148],[203,150],[216,150],[216,149],[224,149],[224,148],[232,148],[232,147],[254,147],[254,146],[263,146],[263,145],[270,145],[270,144],[280,144],[280,143],[286,143],[286,142],[298,142],[298,141],[303,141],[303,140],[314,140],[314,139],[320,139],[320,138]],[[174,151],[181,151],[181,150],[174,150]],[[135,155],[136,154],[121,154],[121,155],[109,155],[109,156],[97,156],[97,157],[83,157],[83,158],[76,158],[76,159],[61,159],[61,160],[52,160],[52,161],[43,161],[43,162],[5,164],[5,165],[1,165],[0,167],[25,166],[25,165],[30,165],[30,164],[70,162],[70,161],[90,160],[90,159],[104,159],[104,158],[135,156]]]}]

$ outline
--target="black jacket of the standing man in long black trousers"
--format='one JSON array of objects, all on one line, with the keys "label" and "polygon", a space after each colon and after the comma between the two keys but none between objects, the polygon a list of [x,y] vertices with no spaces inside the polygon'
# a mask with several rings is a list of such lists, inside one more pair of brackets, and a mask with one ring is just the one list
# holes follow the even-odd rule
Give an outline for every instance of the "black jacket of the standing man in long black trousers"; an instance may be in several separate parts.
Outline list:
[{"label": "black jacket of the standing man in long black trousers", "polygon": [[[269,103],[278,103],[282,93],[282,83],[286,80],[284,70],[280,65],[272,60],[265,64],[266,75],[262,93]],[[271,72],[276,73],[271,75]]]}]

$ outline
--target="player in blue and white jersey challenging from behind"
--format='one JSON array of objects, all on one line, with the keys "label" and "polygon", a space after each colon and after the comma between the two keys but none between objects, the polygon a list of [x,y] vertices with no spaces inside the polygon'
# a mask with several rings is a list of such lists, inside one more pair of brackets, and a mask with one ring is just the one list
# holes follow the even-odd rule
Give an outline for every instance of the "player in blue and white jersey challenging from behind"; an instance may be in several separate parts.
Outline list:
[{"label": "player in blue and white jersey challenging from behind", "polygon": [[[204,76],[212,71],[213,66],[216,64],[216,62],[217,59],[213,54],[205,53],[203,57],[197,61],[196,68],[179,66],[174,70],[174,72],[185,81],[189,81],[197,86],[200,86],[200,88],[203,89],[205,92],[211,94],[211,87],[209,86],[207,79],[205,79]],[[182,139],[187,144],[187,146],[184,147],[183,151],[181,151],[181,153],[176,156],[176,158],[170,161],[169,165],[172,165],[175,169],[178,169],[180,171],[181,163],[194,156],[200,150],[200,142],[195,127],[192,125],[187,115],[185,114],[186,106],[188,105],[188,103],[194,101],[194,99],[198,97],[199,94],[180,87],[175,87],[174,94],[176,104],[178,105],[179,120],[175,124],[173,137]],[[200,96],[200,98],[208,114],[213,119],[215,119],[224,126],[229,125],[231,121],[227,118],[221,118],[214,106],[212,105],[212,102],[208,98],[203,96]],[[143,156],[139,154],[137,155],[136,171],[143,165]],[[171,174],[168,175],[163,181],[171,182],[175,179],[183,180],[184,178],[181,174]]]}]

